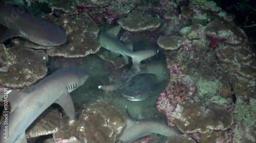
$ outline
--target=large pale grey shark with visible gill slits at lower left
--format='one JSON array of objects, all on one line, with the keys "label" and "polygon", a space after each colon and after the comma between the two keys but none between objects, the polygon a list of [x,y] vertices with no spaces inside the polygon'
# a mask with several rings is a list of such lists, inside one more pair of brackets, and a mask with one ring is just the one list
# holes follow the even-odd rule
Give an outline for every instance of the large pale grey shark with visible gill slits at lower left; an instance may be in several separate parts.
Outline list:
[{"label": "large pale grey shark with visible gill slits at lower left", "polygon": [[0,142],[27,143],[26,129],[53,103],[59,104],[71,120],[75,119],[75,108],[69,93],[80,87],[88,77],[82,69],[61,69],[22,91],[11,91],[7,99],[11,103],[11,111],[6,115],[8,124],[4,123],[1,127]]}]

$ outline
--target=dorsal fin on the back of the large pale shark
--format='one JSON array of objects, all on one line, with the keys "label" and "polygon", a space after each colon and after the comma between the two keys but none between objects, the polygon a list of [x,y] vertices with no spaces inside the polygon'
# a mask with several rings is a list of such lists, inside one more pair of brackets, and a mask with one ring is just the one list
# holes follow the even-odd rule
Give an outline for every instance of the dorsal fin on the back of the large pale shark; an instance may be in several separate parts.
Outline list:
[{"label": "dorsal fin on the back of the large pale shark", "polygon": [[24,93],[22,91],[14,91],[14,90],[8,94],[7,100],[11,103],[10,113],[15,111],[19,107],[20,101],[26,98],[26,96],[27,96],[27,93]]}]

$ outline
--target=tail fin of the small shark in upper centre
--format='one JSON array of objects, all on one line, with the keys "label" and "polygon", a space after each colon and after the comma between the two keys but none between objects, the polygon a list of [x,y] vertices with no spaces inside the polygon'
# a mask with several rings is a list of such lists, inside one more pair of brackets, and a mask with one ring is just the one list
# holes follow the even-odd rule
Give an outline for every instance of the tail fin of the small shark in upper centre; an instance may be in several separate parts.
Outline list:
[{"label": "tail fin of the small shark in upper centre", "polygon": [[133,65],[137,65],[138,67],[140,67],[141,61],[151,58],[152,56],[156,55],[157,53],[158,53],[158,50],[136,51],[131,56],[133,59]]}]

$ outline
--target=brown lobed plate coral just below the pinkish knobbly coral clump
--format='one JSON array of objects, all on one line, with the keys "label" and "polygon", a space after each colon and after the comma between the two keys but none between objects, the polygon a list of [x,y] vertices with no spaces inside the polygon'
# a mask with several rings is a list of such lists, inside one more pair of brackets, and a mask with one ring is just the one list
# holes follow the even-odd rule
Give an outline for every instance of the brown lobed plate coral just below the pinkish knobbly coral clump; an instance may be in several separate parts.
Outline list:
[{"label": "brown lobed plate coral just below the pinkish knobbly coral clump", "polygon": [[205,110],[198,103],[183,102],[177,105],[173,117],[174,124],[183,133],[205,134],[212,130],[226,130],[233,123],[231,113],[214,103]]}]

